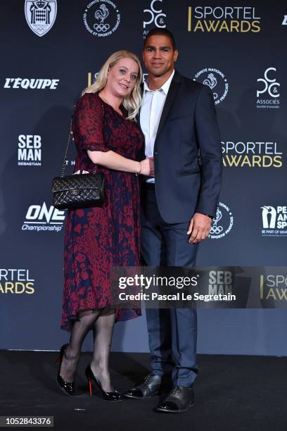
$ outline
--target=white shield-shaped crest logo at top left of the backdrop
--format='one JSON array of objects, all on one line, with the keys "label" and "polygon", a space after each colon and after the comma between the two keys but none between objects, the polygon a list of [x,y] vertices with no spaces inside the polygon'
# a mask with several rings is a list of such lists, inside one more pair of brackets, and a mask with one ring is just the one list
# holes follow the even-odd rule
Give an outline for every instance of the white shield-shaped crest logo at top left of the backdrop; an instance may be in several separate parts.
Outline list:
[{"label": "white shield-shaped crest logo at top left of the backdrop", "polygon": [[32,32],[46,35],[53,27],[57,15],[57,0],[25,0],[25,17]]}]

